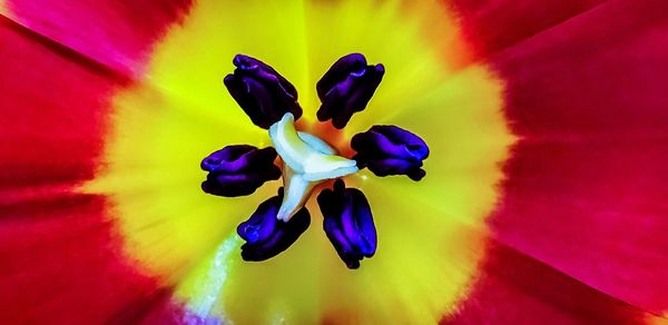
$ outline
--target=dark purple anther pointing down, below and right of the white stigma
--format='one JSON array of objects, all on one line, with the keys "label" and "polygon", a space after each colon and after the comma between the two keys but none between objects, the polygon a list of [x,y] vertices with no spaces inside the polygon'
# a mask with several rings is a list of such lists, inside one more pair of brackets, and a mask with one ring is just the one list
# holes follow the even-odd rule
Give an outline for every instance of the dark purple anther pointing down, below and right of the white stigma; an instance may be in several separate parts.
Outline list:
[{"label": "dark purple anther pointing down, below and right of the white stigma", "polygon": [[317,204],[325,217],[325,234],[338,256],[348,268],[358,268],[360,260],[372,257],[377,246],[366,197],[356,188],[345,188],[338,179],[334,190],[325,189],[317,196]]}]

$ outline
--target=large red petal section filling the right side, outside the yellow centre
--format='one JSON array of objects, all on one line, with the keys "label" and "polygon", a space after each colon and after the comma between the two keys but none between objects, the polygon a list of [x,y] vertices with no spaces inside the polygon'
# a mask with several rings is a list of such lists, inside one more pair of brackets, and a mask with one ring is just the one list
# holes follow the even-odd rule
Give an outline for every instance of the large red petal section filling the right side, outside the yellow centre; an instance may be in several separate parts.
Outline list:
[{"label": "large red petal section filling the right side, outside the yellow centre", "polygon": [[657,313],[668,308],[665,9],[610,1],[491,59],[523,138],[495,236]]}]

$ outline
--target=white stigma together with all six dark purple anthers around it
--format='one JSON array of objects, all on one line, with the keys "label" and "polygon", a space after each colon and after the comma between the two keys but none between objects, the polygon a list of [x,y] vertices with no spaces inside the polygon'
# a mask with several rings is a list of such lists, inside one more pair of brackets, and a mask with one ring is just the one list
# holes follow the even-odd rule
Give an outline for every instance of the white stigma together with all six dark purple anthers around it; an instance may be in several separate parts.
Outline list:
[{"label": "white stigma together with all six dark purple anthers around it", "polygon": [[[289,247],[308,227],[310,215],[304,205],[315,187],[336,179],[334,191],[322,191],[317,203],[325,218],[325,233],[341,259],[348,268],[358,268],[363,257],[375,253],[376,230],[366,197],[358,189],[345,188],[341,177],[370,166],[377,176],[406,174],[420,180],[425,175],[420,167],[429,156],[426,144],[395,126],[374,126],[353,137],[357,162],[341,157],[322,139],[296,131],[294,112],[284,109],[296,107],[298,115],[302,110],[295,101],[295,88],[285,78],[245,55],[235,56],[233,62],[237,69],[225,78],[225,86],[255,125],[269,129],[283,160],[286,191],[284,195],[281,189],[278,196],[261,204],[250,219],[239,225],[237,232],[247,242],[242,246],[242,257],[264,260]],[[333,117],[334,126],[343,128],[354,112],[366,107],[384,72],[382,65],[366,66],[366,58],[360,53],[338,59],[317,83],[323,102],[318,119]],[[209,171],[202,188],[222,196],[252,194],[265,181],[278,178],[278,169],[273,165],[276,151],[252,146],[225,147],[202,161],[202,169]]]}]

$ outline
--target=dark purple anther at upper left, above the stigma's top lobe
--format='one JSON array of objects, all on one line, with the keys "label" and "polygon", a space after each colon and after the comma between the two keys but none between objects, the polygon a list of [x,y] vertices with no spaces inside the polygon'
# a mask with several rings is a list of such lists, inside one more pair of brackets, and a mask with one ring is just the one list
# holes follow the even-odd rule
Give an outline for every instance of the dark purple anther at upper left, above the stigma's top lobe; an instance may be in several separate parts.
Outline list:
[{"label": "dark purple anther at upper left, above the stigma's top lobe", "polygon": [[286,112],[295,119],[302,116],[297,90],[274,68],[244,55],[235,56],[233,62],[237,68],[224,82],[253,124],[268,129]]}]

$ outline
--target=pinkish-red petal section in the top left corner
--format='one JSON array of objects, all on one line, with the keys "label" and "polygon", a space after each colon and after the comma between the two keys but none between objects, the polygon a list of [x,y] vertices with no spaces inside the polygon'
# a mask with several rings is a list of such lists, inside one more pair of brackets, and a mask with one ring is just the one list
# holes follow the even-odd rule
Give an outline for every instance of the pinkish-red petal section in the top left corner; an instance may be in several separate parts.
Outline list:
[{"label": "pinkish-red petal section in the top left corner", "polygon": [[11,19],[37,33],[137,75],[153,43],[190,4],[191,0],[8,0],[6,6]]}]

